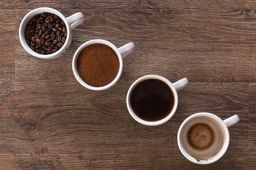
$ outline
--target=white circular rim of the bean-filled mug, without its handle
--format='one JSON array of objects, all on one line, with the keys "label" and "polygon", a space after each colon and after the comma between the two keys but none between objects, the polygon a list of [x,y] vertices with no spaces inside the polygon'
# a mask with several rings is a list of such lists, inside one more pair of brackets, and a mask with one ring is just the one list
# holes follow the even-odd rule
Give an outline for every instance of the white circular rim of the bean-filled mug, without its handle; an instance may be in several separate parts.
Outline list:
[{"label": "white circular rim of the bean-filled mug, without its handle", "polygon": [[[23,32],[22,31],[22,28],[26,28],[28,22],[25,23],[25,19],[30,17],[30,19],[32,19],[32,17],[35,17],[36,15],[38,15],[38,11],[40,11],[40,13],[43,13],[43,12],[48,12],[48,13],[52,13],[52,14],[55,14],[57,15],[58,17],[61,18],[61,20],[63,20],[63,22],[65,23],[66,25],[66,28],[67,28],[67,39],[64,43],[64,45],[58,50],[56,51],[55,53],[53,54],[38,54],[36,53],[35,51],[33,51],[29,45],[27,44],[26,42],[26,36],[25,36],[25,31]],[[36,14],[38,13],[38,14]],[[42,8],[36,8],[36,9],[33,9],[32,11],[30,11],[28,14],[26,14],[26,16],[23,18],[23,20],[21,21],[20,23],[20,27],[19,27],[19,37],[20,37],[20,43],[21,45],[23,46],[23,48],[31,55],[35,56],[35,57],[38,57],[38,58],[42,58],[42,59],[50,59],[50,58],[53,58],[55,56],[58,56],[59,54],[61,54],[63,52],[63,50],[67,47],[67,44],[68,42],[70,41],[70,34],[71,34],[71,30],[70,30],[70,25],[69,23],[67,22],[67,19],[66,17],[64,17],[63,14],[61,14],[59,11],[57,11],[56,9],[53,9],[53,8],[47,8],[47,7],[42,7]]]}]

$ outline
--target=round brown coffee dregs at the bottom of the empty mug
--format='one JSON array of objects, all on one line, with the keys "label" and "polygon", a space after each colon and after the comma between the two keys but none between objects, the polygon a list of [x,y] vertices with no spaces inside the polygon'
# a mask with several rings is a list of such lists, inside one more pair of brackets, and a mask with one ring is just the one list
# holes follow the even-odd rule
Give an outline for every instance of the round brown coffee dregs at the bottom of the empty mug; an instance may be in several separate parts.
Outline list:
[{"label": "round brown coffee dregs at the bottom of the empty mug", "polygon": [[207,150],[214,141],[215,135],[213,129],[204,123],[198,123],[190,127],[187,140],[190,146],[195,150]]}]

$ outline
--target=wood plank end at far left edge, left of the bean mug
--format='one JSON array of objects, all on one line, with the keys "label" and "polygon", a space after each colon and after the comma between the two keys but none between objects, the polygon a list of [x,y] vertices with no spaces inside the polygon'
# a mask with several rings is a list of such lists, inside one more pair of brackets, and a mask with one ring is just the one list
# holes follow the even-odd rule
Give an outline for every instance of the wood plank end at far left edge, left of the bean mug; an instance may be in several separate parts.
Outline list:
[{"label": "wood plank end at far left edge, left of the bean mug", "polygon": [[0,10],[0,109],[12,108],[16,12]]}]

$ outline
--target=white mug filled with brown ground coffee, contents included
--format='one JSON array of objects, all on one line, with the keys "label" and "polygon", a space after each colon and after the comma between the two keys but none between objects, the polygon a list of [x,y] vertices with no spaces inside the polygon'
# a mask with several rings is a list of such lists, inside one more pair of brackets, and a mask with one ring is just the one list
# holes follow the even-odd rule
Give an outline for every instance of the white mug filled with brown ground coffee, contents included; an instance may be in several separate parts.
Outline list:
[{"label": "white mug filled with brown ground coffee, contents included", "polygon": [[100,91],[111,88],[121,77],[122,58],[135,50],[130,42],[116,48],[106,40],[90,40],[74,54],[72,68],[77,81],[85,88]]}]

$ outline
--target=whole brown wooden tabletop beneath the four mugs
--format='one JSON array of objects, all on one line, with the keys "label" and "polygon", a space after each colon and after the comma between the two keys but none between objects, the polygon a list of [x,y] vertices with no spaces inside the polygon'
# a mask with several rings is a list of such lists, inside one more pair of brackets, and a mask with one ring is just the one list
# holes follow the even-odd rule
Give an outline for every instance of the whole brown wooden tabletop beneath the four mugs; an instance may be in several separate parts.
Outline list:
[{"label": "whole brown wooden tabletop beneath the four mugs", "polygon": [[[20,44],[21,20],[39,7],[84,14],[58,59],[33,57]],[[254,9],[253,0],[1,0],[0,169],[256,169]],[[73,75],[73,54],[92,39],[136,46],[106,91],[90,91]],[[126,107],[129,87],[148,74],[189,79],[175,115],[155,127]],[[198,112],[240,117],[213,164],[194,164],[177,146],[181,123]]]}]

